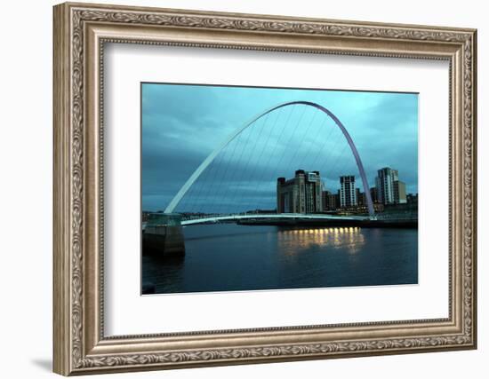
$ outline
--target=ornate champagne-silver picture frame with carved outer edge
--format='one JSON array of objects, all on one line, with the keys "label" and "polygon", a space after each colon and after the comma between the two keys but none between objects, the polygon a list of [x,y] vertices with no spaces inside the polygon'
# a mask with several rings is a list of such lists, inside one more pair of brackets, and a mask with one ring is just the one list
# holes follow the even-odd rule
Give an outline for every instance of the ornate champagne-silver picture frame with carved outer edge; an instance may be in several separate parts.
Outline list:
[{"label": "ornate champagne-silver picture frame with carved outer edge", "polygon": [[[54,7],[54,372],[100,374],[477,347],[477,31],[100,4]],[[444,59],[449,310],[436,320],[104,335],[104,43]]]}]

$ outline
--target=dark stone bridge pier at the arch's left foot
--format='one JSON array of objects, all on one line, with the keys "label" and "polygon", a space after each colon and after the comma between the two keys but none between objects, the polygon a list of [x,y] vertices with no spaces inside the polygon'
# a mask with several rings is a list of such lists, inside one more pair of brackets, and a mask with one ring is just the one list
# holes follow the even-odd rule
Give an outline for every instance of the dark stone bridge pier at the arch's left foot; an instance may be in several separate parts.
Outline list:
[{"label": "dark stone bridge pier at the arch's left foot", "polygon": [[143,255],[182,257],[185,255],[185,240],[181,216],[176,213],[153,213],[142,233]]}]

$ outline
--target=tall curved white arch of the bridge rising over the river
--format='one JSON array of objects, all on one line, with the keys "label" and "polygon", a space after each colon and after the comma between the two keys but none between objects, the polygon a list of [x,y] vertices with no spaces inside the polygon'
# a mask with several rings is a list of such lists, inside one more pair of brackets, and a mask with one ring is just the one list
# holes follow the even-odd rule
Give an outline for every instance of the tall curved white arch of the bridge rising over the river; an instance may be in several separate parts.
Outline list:
[{"label": "tall curved white arch of the bridge rising over the river", "polygon": [[214,160],[214,158],[226,146],[228,146],[229,142],[231,142],[234,138],[236,138],[243,130],[245,130],[246,128],[248,128],[254,121],[258,120],[262,116],[264,116],[266,114],[269,114],[270,112],[272,112],[272,111],[274,111],[274,110],[276,110],[278,108],[288,107],[288,106],[291,106],[293,104],[301,104],[301,105],[305,105],[305,106],[309,106],[309,107],[316,107],[317,109],[323,111],[325,114],[329,115],[329,117],[331,119],[333,119],[333,122],[335,122],[335,124],[340,128],[341,132],[343,133],[343,136],[347,139],[347,141],[349,143],[349,147],[351,149],[351,152],[352,152],[352,154],[355,157],[355,161],[357,162],[357,167],[358,167],[358,170],[360,171],[360,177],[362,178],[362,184],[363,184],[364,190],[365,190],[365,197],[366,197],[366,201],[367,201],[367,204],[368,204],[369,215],[370,215],[370,217],[374,217],[375,213],[374,213],[374,210],[373,210],[373,202],[372,202],[372,197],[370,195],[368,182],[366,180],[364,166],[363,166],[363,163],[362,163],[362,161],[360,159],[360,155],[358,154],[357,147],[355,146],[355,144],[353,142],[353,139],[350,137],[348,130],[346,130],[346,128],[341,123],[341,121],[338,119],[338,117],[336,117],[327,108],[325,108],[325,107],[323,107],[323,106],[321,106],[321,105],[319,105],[317,103],[314,103],[314,102],[311,102],[311,101],[303,101],[303,100],[290,101],[290,102],[286,102],[286,103],[283,103],[283,104],[279,104],[276,107],[271,107],[267,111],[265,111],[265,112],[257,115],[256,117],[254,117],[251,122],[248,122],[248,123],[244,124],[243,127],[237,129],[233,134],[231,134],[229,136],[228,139],[226,139],[222,144],[220,144],[220,146],[218,146],[216,149],[214,149],[214,151],[211,154],[209,154],[209,156],[207,156],[207,158],[204,160],[204,162],[202,162],[200,164],[200,166],[188,178],[187,182],[180,188],[180,191],[178,193],[176,193],[176,195],[173,197],[172,201],[170,201],[170,203],[168,204],[168,206],[166,207],[166,209],[164,209],[164,212],[165,213],[171,213],[173,211],[173,209],[176,208],[176,206],[178,205],[178,203],[181,201],[181,198],[185,195],[185,193],[188,192],[189,187],[194,184],[194,182],[196,181],[196,179],[202,174],[202,172],[207,168],[207,166],[209,166],[209,164]]}]

